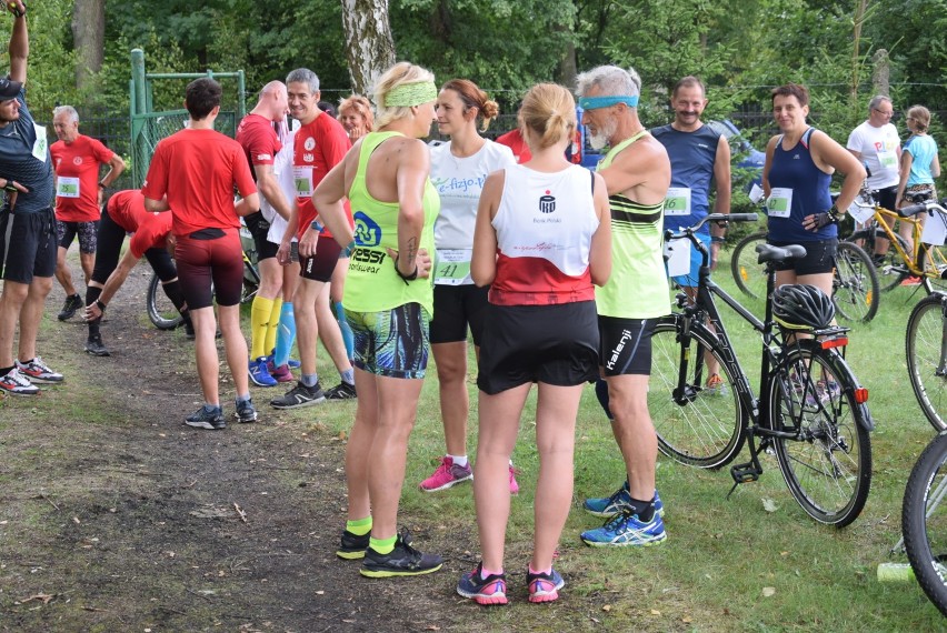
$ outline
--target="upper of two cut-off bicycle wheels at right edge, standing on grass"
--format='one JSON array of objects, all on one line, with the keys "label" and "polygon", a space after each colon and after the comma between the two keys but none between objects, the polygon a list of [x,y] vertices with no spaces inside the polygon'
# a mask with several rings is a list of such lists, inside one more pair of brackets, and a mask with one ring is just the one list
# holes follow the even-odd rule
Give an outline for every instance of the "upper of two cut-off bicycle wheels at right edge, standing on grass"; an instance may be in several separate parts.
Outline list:
[{"label": "upper of two cut-off bicycle wheels at right edge, standing on grass", "polygon": [[947,295],[930,294],[914,307],[905,351],[918,404],[935,429],[947,430]]}]

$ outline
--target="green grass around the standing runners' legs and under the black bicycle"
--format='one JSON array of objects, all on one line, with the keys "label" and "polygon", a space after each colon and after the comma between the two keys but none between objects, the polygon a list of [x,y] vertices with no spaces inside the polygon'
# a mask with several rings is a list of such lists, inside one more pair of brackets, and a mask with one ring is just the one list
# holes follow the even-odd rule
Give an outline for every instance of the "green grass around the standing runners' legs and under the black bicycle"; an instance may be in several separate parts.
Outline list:
[{"label": "green grass around the standing runners' legs and under the black bicycle", "polygon": [[[721,262],[717,280],[734,289],[727,264]],[[485,610],[452,593],[458,570],[472,567],[479,557],[471,486],[463,484],[433,494],[417,489],[445,449],[437,381],[431,368],[410,440],[400,522],[412,529],[421,528],[420,532],[428,534],[419,539],[422,549],[426,542],[449,543],[441,552],[450,554],[452,560],[449,571],[408,581],[403,586],[410,592],[433,593],[456,617],[457,627],[463,630],[471,626],[488,631],[947,629],[916,583],[876,580],[879,563],[906,562],[903,553],[891,554],[900,536],[904,486],[915,460],[934,436],[915,402],[905,368],[904,328],[919,297],[913,294],[913,289],[896,289],[881,298],[875,321],[853,325],[848,361],[870,391],[876,431],[871,434],[874,480],[868,503],[861,516],[844,530],[821,526],[803,512],[786,489],[772,458],[765,458],[766,472],[759,482],[741,485],[729,499],[732,480],[727,469],[701,471],[659,458],[657,478],[666,504],[668,540],[660,546],[642,550],[586,547],[578,534],[598,525],[599,520],[581,511],[581,500],[612,492],[625,478],[610,428],[592,390],[588,389],[578,420],[576,499],[557,562],[567,585],[559,602],[545,606],[527,604],[522,586],[530,552],[532,490],[539,466],[531,409],[535,394],[524,413],[514,455],[521,492],[514,500],[508,532],[506,566],[512,602],[506,609]],[[747,305],[761,313],[760,302],[748,301]],[[731,326],[731,336],[740,341],[745,364],[755,366],[757,339],[747,328],[738,326],[735,318],[726,319],[725,314],[725,321]],[[325,384],[332,385],[333,372],[323,359],[325,355],[320,358],[320,374]],[[103,421],[110,412],[97,409],[102,394],[91,383],[82,388],[76,384],[68,399],[63,392],[62,398],[51,402],[68,408],[63,409],[70,411],[66,414],[82,416],[91,424],[107,423]],[[469,385],[472,458],[477,443],[477,390],[472,376]],[[88,392],[83,393],[82,389]],[[270,393],[255,391],[257,402],[265,402]],[[3,422],[4,416],[29,411],[20,402],[16,409],[9,401],[0,404],[0,428],[13,420],[7,418]],[[341,444],[355,406],[355,403],[337,403],[287,412],[280,414],[279,422],[268,428],[267,433],[282,438],[302,432],[306,441],[337,446],[328,461],[320,461],[341,473]],[[745,455],[746,452],[741,456]],[[10,466],[0,469],[0,483],[14,476]],[[327,486],[335,485],[325,481]],[[331,525],[332,531],[342,521],[341,504],[337,508],[338,522]],[[0,630],[3,630],[2,617]],[[380,625],[379,630],[385,626]]]}]

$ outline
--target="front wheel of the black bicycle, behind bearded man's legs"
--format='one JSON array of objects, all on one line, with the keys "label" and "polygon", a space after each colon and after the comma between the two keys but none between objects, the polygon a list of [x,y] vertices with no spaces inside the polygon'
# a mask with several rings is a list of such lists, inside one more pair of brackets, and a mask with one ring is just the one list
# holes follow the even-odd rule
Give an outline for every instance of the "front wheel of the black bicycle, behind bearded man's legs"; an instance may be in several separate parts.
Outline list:
[{"label": "front wheel of the black bicycle, behind bearded man's legs", "polygon": [[[694,324],[687,350],[688,372],[680,381],[681,343],[677,318],[666,316],[651,335],[648,411],[660,451],[682,464],[716,469],[729,463],[744,445],[745,413],[734,388],[735,369],[724,363],[716,336]],[[707,388],[707,356],[719,364],[722,383]]]}]

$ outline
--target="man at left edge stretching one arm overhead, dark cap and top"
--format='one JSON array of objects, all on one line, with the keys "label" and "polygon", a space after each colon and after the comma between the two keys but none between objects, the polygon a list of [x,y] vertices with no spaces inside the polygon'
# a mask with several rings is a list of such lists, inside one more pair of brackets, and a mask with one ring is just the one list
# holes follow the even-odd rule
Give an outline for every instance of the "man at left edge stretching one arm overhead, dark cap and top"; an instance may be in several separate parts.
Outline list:
[{"label": "man at left edge stretching one arm overhead, dark cap and top", "polygon": [[[23,82],[30,51],[27,8],[7,3],[13,13],[10,74],[0,78],[0,393],[34,395],[33,382],[62,382],[37,355],[37,333],[56,270],[56,222],[52,212],[52,161],[46,128],[27,108]],[[20,325],[17,358],[13,335]]]}]

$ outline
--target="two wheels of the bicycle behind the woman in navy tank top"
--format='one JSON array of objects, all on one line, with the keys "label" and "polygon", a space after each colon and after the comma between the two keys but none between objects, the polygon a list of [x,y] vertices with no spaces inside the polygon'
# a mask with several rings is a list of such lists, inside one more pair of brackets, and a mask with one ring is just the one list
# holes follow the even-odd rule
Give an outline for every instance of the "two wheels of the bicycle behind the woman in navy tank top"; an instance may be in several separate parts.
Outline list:
[{"label": "two wheels of the bicycle behind the woman in navy tank top", "polygon": [[[734,248],[730,272],[745,294],[759,299],[766,290],[766,271],[755,261],[756,245],[766,241],[766,231],[752,233]],[[847,321],[867,323],[878,313],[878,273],[871,258],[857,244],[838,243],[833,271],[831,300]]]}]

